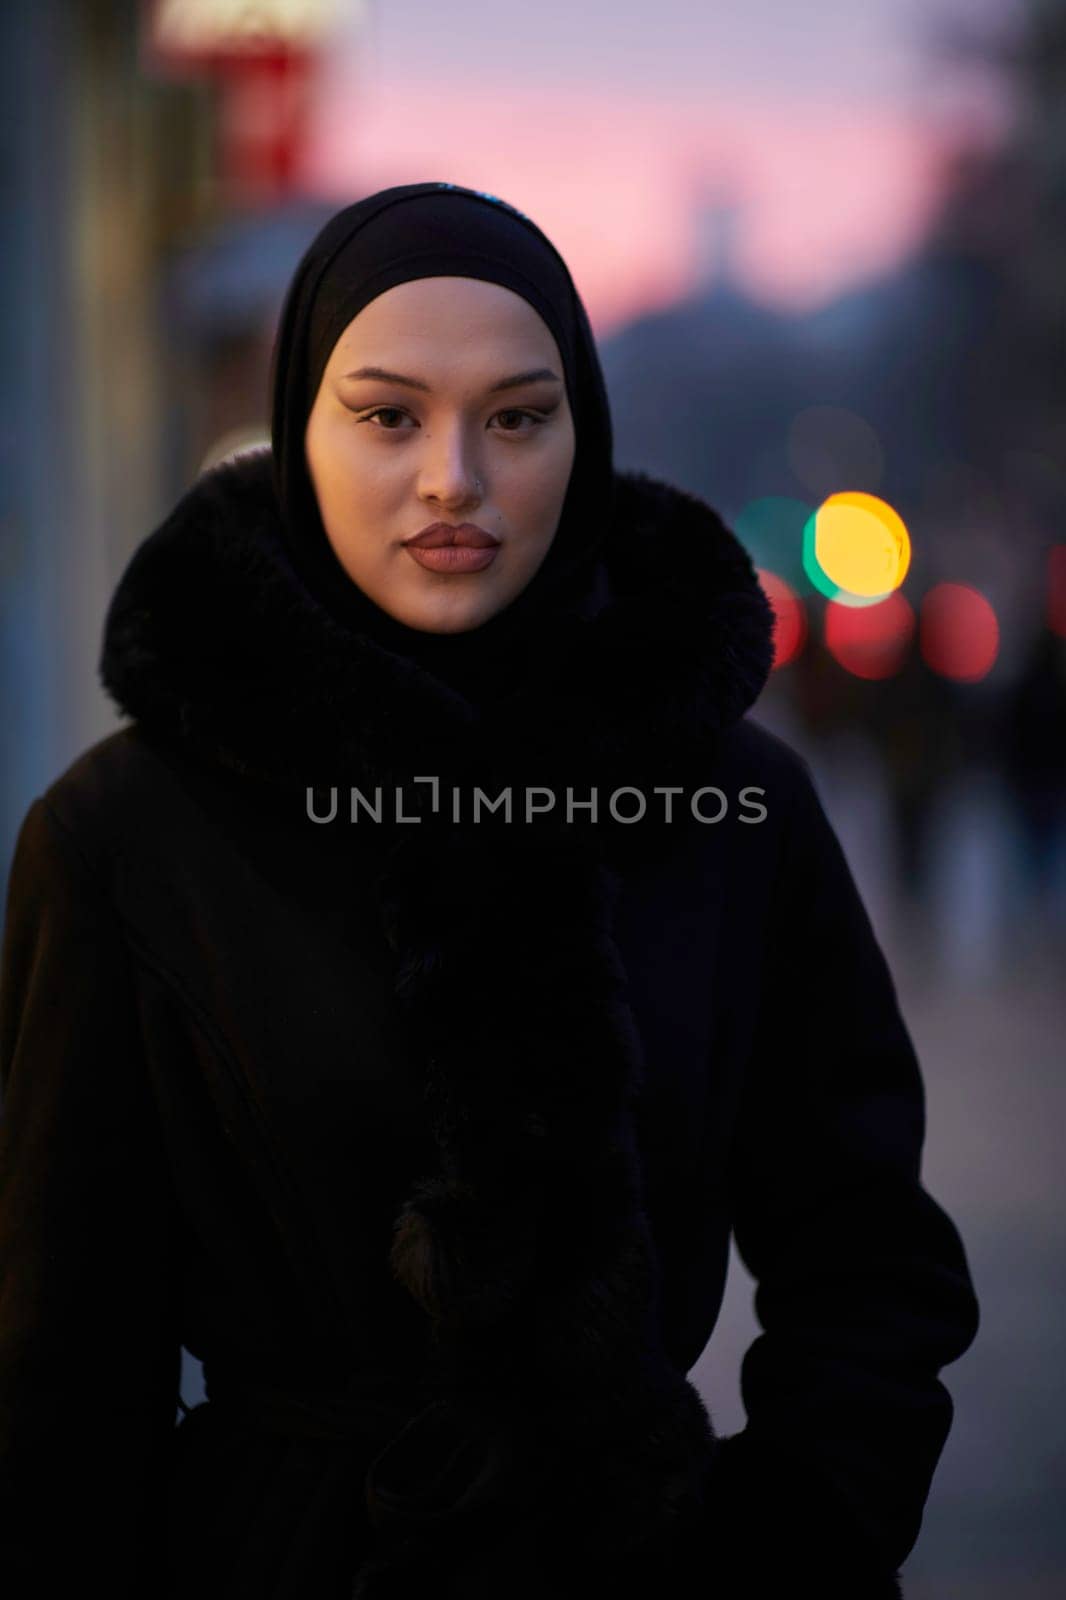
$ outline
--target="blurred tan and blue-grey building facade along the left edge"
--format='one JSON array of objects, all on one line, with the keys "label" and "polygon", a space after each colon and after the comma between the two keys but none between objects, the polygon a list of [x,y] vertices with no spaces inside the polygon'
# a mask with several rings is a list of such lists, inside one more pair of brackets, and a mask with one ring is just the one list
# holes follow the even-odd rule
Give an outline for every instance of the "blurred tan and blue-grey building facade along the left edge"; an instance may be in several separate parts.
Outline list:
[{"label": "blurred tan and blue-grey building facade along the left edge", "polygon": [[138,22],[134,0],[0,8],[5,866],[32,797],[114,726],[99,624],[165,475],[160,262],[214,203],[210,86],[147,80]]}]

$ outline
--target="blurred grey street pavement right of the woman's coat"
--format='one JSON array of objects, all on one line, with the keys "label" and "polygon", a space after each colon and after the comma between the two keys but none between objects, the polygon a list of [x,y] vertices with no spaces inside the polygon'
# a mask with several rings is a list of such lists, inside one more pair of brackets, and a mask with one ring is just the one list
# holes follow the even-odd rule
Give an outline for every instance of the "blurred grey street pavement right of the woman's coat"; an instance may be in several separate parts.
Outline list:
[{"label": "blurred grey street pavement right of the woman's coat", "polygon": [[[981,1302],[975,1344],[941,1374],[956,1419],[903,1568],[904,1594],[1060,1600],[1066,894],[1060,877],[1042,915],[1026,904],[1012,877],[1018,858],[1004,851],[984,795],[968,814],[943,819],[976,882],[944,870],[928,904],[903,907],[879,846],[885,835],[864,826],[852,792],[844,771],[823,784],[922,1064],[924,1182],[962,1234]],[[1000,920],[1005,906],[1015,915]],[[722,1317],[693,1374],[727,1434],[744,1422],[738,1371],[759,1331],[752,1288],[733,1246]]]}]

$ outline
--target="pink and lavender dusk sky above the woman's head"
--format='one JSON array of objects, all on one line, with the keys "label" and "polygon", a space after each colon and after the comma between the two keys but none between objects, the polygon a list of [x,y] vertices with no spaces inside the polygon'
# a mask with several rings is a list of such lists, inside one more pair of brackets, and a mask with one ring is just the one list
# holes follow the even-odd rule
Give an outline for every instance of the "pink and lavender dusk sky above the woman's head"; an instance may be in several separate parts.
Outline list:
[{"label": "pink and lavender dusk sky above the woman's head", "polygon": [[312,182],[503,195],[559,245],[597,334],[706,282],[719,195],[744,290],[816,306],[906,254],[951,141],[1008,115],[928,37],[1015,3],[371,0],[362,22],[352,3],[315,94]]}]

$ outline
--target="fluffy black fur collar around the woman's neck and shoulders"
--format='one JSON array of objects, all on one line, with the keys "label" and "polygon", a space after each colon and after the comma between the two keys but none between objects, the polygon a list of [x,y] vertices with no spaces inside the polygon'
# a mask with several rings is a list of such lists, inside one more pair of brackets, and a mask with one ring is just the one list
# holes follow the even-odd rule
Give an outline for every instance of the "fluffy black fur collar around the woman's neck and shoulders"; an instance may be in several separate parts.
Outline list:
[{"label": "fluffy black fur collar around the woman's neck and shoulders", "polygon": [[101,682],[131,717],[274,784],[389,786],[474,747],[507,770],[565,763],[568,782],[706,771],[709,742],[770,672],[773,618],[751,558],[703,501],[619,472],[603,565],[603,603],[554,640],[535,690],[479,714],[295,582],[271,454],[251,451],[194,483],[134,552]]}]

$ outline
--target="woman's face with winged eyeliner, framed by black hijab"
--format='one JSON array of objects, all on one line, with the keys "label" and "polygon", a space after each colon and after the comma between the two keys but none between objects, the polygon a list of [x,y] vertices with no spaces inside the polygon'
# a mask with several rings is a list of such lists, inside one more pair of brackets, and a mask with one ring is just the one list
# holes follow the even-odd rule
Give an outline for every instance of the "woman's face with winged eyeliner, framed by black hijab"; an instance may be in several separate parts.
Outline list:
[{"label": "woman's face with winged eyeliner, framed by black hijab", "polygon": [[[499,283],[397,283],[333,347],[304,443],[327,536],[359,587],[408,627],[477,627],[525,589],[559,526],[576,443],[559,346]],[[437,522],[498,539],[488,565],[464,568],[461,550],[429,554],[443,570],[421,565],[405,541]]]}]

